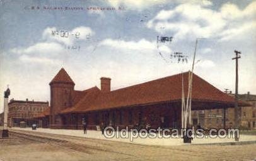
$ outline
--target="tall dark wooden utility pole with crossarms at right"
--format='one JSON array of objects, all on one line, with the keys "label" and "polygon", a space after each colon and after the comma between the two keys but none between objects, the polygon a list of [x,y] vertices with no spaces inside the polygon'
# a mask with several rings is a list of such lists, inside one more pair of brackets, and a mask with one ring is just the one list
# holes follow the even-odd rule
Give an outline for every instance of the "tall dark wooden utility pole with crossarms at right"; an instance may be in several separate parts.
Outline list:
[{"label": "tall dark wooden utility pole with crossarms at right", "polygon": [[[235,128],[239,128],[240,123],[240,116],[238,114],[238,58],[241,58],[240,53],[237,50],[235,50],[236,57],[232,58],[232,60],[236,60],[236,86],[235,86]],[[237,136],[237,133],[235,133],[235,141],[239,141],[239,138]]]}]

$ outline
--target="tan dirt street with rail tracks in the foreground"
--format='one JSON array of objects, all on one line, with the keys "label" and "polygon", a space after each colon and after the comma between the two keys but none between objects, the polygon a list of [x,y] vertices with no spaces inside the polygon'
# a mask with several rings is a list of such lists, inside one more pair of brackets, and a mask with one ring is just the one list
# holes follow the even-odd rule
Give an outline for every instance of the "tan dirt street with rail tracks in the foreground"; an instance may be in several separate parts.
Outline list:
[{"label": "tan dirt street with rail tracks in the foreground", "polygon": [[0,160],[255,160],[256,144],[156,147],[79,139],[81,145],[18,136],[0,139]]}]

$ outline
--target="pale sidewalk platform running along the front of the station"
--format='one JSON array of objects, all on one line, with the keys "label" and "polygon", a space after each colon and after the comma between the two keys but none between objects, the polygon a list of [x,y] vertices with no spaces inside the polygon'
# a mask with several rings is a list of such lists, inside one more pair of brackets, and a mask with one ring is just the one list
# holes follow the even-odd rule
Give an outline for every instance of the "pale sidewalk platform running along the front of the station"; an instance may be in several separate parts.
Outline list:
[{"label": "pale sidewalk platform running along the front of the station", "polygon": [[[25,130],[33,132],[51,133],[55,135],[67,135],[67,136],[79,136],[84,138],[96,138],[103,140],[112,140],[118,142],[137,143],[142,145],[190,145],[183,143],[182,138],[134,138],[130,141],[130,138],[105,138],[101,131],[87,130],[87,134],[84,135],[83,130],[64,130],[64,129],[49,129],[49,128],[9,128],[9,130]],[[130,135],[129,135],[130,136]],[[214,144],[214,143],[235,143],[235,138],[194,138],[192,145],[199,144]],[[240,135],[240,142],[256,142],[256,135]]]}]

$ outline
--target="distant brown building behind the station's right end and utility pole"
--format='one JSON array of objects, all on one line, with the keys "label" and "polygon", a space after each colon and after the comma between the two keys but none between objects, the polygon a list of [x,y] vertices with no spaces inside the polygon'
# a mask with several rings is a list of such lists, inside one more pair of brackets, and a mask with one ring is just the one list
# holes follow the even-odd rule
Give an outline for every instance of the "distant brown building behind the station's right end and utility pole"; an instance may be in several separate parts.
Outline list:
[{"label": "distant brown building behind the station's right end and utility pole", "polygon": [[[234,94],[229,94],[234,96]],[[239,94],[240,101],[245,101],[250,106],[240,107],[240,128],[244,130],[256,129],[256,95]],[[226,128],[233,128],[235,125],[235,109],[226,108]],[[224,109],[208,109],[192,111],[193,125],[201,125],[204,128],[224,128]]]}]

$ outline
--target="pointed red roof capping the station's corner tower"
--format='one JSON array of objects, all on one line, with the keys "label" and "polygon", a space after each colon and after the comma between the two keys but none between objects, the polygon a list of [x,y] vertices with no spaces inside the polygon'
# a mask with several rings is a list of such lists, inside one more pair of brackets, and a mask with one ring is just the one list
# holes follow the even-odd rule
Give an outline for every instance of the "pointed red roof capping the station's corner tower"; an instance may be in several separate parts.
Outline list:
[{"label": "pointed red roof capping the station's corner tower", "polygon": [[61,70],[59,70],[57,75],[55,75],[54,79],[52,79],[52,81],[50,81],[50,85],[54,84],[54,83],[64,83],[64,84],[73,84],[74,85],[73,80],[71,79],[69,74],[67,74],[67,72],[64,68],[61,68]]}]

